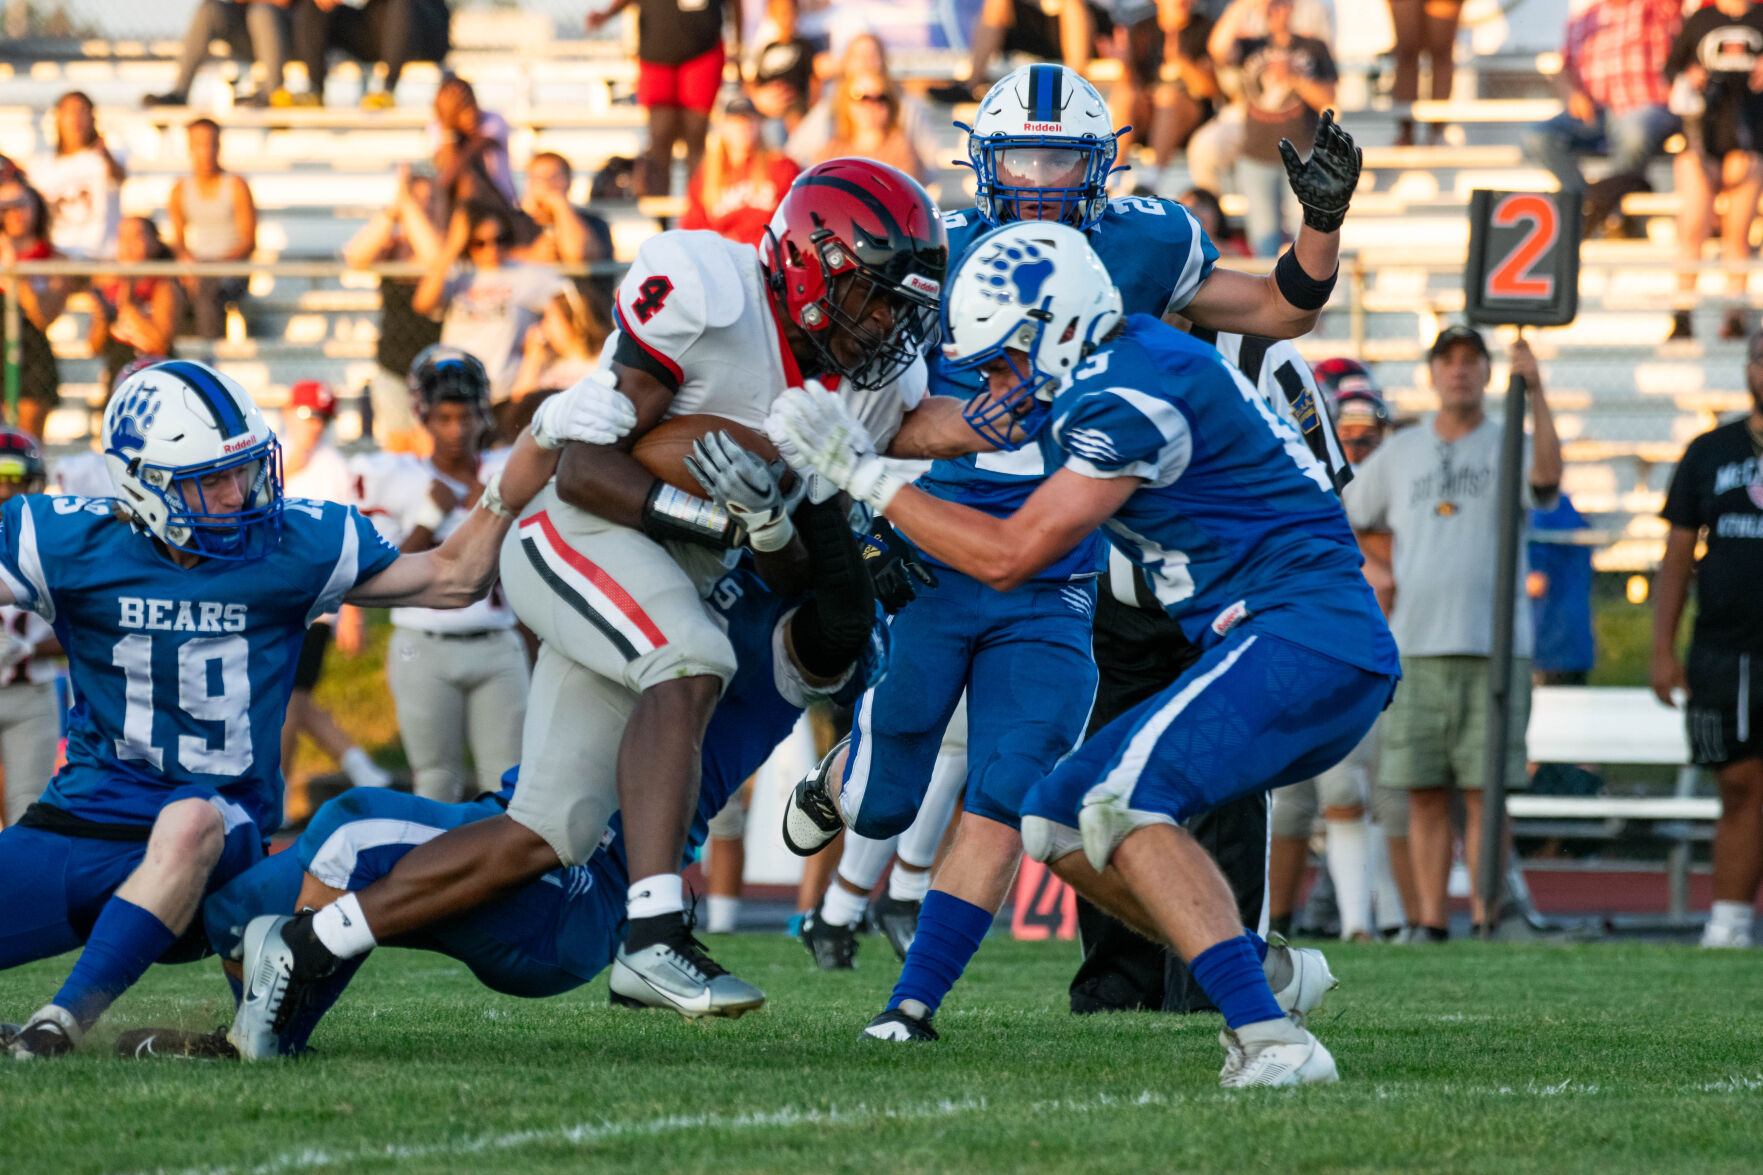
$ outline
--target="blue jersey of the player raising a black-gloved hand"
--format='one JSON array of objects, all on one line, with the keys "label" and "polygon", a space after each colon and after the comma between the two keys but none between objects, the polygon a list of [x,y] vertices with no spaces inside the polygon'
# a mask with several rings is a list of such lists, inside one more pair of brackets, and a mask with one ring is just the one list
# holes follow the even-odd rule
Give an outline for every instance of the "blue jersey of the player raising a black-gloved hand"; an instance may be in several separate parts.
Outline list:
[{"label": "blue jersey of the player raising a black-gloved hand", "polygon": [[[950,258],[959,258],[991,228],[973,210],[950,212],[943,217],[943,224],[948,229]],[[1218,259],[1218,249],[1186,208],[1149,196],[1116,196],[1088,236],[1120,288],[1127,314],[1162,318],[1169,311],[1179,311],[1201,282],[1211,277],[1213,263]],[[978,386],[977,376],[954,379],[934,349],[927,363],[933,395],[968,399]],[[1014,453],[975,453],[938,460],[917,485],[936,498],[959,501],[1001,519],[1015,513],[1054,468],[1058,466],[1042,464],[1037,446],[1024,445]],[[1070,579],[1097,572],[1100,554],[1100,536],[1084,540],[1038,579]]]}]

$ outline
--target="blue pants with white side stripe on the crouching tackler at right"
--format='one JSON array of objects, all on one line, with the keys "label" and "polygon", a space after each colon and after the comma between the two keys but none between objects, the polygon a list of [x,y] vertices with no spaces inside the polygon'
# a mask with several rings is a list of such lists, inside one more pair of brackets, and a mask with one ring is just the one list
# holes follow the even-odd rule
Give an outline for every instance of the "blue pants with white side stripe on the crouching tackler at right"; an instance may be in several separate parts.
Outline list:
[{"label": "blue pants with white side stripe on the crouching tackler at right", "polygon": [[1023,815],[1075,831],[1086,805],[1114,803],[1179,824],[1333,767],[1395,688],[1395,676],[1257,633],[1250,621],[1102,727],[1028,792]]}]

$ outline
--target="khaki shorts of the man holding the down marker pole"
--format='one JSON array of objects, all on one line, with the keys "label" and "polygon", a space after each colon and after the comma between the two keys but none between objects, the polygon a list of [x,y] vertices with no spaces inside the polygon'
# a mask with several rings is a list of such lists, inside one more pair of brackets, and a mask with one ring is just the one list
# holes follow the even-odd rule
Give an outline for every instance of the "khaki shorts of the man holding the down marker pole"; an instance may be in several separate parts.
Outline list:
[{"label": "khaki shorts of the man holding the down marker pole", "polygon": [[[1384,787],[1481,790],[1488,755],[1486,656],[1403,656],[1402,685],[1384,711],[1377,782]],[[1506,789],[1523,790],[1530,662],[1513,658]]]}]

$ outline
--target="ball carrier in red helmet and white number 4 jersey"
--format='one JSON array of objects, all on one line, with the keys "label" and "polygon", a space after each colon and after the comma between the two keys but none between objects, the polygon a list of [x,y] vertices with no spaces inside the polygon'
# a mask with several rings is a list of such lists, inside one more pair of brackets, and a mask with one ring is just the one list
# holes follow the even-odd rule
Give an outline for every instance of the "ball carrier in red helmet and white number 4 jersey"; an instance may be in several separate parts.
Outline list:
[{"label": "ball carrier in red helmet and white number 4 jersey", "polygon": [[[506,817],[439,836],[358,894],[266,940],[291,997],[379,935],[407,933],[561,864],[580,864],[622,813],[629,930],[612,990],[689,1016],[739,1014],[763,993],[691,937],[679,861],[698,796],[698,741],[735,670],[702,589],[744,543],[776,572],[797,550],[763,462],[700,446],[702,499],[629,450],[668,416],[760,429],[788,386],[836,388],[896,457],[959,452],[961,402],[924,399],[947,236],[910,176],[836,159],[797,178],[751,247],[672,231],[643,243],[619,286],[605,378],[636,404],[617,446],[571,446],[502,549],[502,586],[543,640],[520,783]],[[834,607],[822,596],[820,607]],[[850,616],[850,640],[871,617]],[[804,653],[799,649],[797,653]],[[844,656],[844,649],[806,651]],[[843,663],[843,662],[841,662]],[[347,919],[347,923],[346,923]],[[247,956],[247,974],[256,960]],[[263,1014],[279,1014],[279,1006]]]}]

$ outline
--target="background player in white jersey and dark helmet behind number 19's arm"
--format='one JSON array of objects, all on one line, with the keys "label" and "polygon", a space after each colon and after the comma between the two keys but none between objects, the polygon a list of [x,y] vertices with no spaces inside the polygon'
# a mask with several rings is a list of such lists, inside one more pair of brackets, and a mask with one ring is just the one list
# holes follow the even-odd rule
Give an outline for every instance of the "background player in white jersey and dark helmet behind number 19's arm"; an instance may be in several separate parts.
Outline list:
[{"label": "background player in white jersey and dark helmet behind number 19's arm", "polygon": [[[432,441],[430,455],[363,462],[360,506],[400,550],[427,550],[465,520],[508,450],[483,452],[495,427],[490,378],[458,348],[435,344],[416,356],[411,408]],[[502,785],[502,773],[520,762],[527,676],[527,647],[501,588],[465,609],[393,609],[386,685],[418,796],[457,803]]]}]

